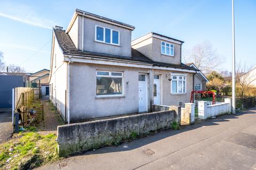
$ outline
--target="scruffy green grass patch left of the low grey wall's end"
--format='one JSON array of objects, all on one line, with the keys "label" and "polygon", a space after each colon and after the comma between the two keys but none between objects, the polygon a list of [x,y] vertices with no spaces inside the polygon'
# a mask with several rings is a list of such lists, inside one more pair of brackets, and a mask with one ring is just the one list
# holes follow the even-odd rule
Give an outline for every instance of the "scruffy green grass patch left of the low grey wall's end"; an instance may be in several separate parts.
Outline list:
[{"label": "scruffy green grass patch left of the low grey wall's end", "polygon": [[35,127],[14,134],[0,145],[0,169],[28,169],[54,162],[57,154],[57,136],[41,135]]}]

